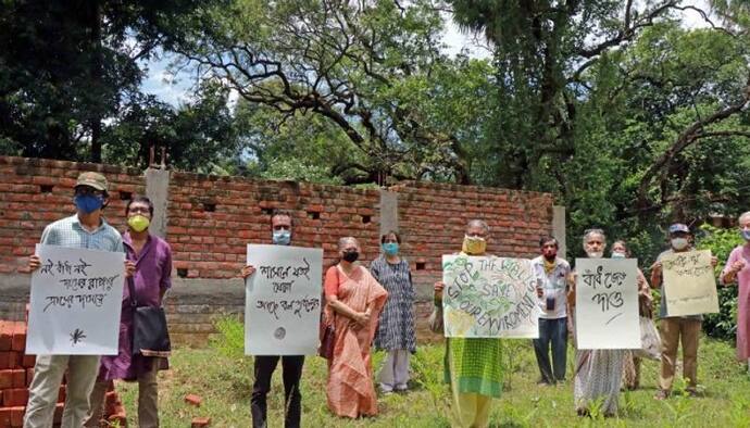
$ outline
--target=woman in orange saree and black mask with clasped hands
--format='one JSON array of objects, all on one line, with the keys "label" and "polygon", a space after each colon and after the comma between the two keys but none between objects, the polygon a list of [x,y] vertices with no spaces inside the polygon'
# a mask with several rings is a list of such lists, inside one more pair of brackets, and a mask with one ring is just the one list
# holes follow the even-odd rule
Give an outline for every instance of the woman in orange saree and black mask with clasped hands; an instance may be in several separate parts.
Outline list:
[{"label": "woman in orange saree and black mask with clasped hands", "polygon": [[377,415],[371,344],[388,292],[360,266],[357,239],[341,238],[341,261],[325,276],[325,316],[335,326],[334,355],[328,360],[328,408],[355,418]]}]

